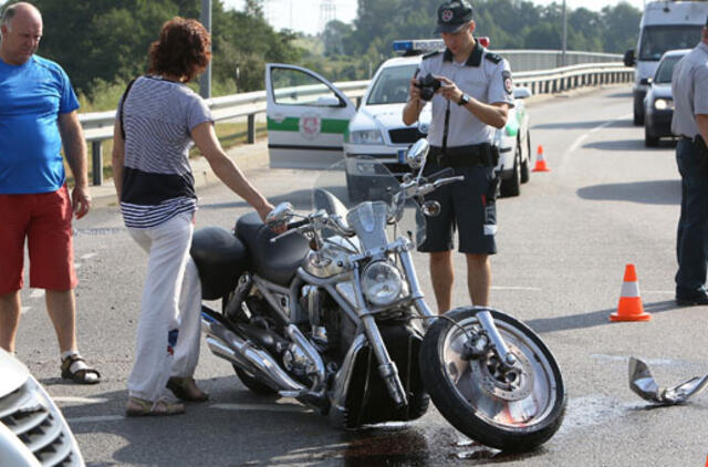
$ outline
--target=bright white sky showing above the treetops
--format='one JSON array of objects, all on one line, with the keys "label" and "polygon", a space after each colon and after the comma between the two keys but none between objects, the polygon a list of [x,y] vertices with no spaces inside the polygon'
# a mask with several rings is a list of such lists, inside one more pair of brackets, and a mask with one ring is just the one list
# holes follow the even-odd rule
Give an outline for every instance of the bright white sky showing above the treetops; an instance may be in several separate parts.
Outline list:
[{"label": "bright white sky showing above the treetops", "polygon": [[[545,6],[553,0],[532,0],[533,3]],[[561,3],[562,0],[555,0]],[[626,0],[629,4],[644,9],[645,0]],[[1,2],[1,1],[0,1]],[[275,29],[293,29],[308,34],[315,34],[322,28],[323,17],[320,6],[324,0],[266,0],[266,18]],[[334,4],[336,19],[343,22],[352,22],[356,17],[356,0],[329,0]],[[223,0],[227,9],[243,8],[243,0]],[[566,0],[568,8],[586,8],[600,11],[606,6],[617,4],[620,0]]]}]

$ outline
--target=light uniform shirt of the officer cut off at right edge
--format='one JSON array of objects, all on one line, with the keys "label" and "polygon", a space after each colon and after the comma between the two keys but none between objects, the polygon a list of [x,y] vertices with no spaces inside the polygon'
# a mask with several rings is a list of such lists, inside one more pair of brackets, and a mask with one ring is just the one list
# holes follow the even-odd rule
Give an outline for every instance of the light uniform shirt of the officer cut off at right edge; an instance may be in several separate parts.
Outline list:
[{"label": "light uniform shirt of the officer cut off at right edge", "polygon": [[676,64],[671,94],[671,132],[693,139],[699,133],[696,115],[708,114],[708,45],[699,43]]}]

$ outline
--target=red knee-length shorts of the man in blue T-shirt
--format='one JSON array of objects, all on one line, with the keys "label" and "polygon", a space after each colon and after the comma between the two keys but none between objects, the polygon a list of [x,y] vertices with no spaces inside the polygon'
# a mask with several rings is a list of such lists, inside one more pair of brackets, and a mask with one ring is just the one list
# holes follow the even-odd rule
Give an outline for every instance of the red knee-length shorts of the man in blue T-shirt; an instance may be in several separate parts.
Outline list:
[{"label": "red knee-length shorts of the man in blue T-shirt", "polygon": [[25,238],[30,287],[76,287],[72,215],[66,185],[54,193],[0,195],[0,295],[22,289]]}]

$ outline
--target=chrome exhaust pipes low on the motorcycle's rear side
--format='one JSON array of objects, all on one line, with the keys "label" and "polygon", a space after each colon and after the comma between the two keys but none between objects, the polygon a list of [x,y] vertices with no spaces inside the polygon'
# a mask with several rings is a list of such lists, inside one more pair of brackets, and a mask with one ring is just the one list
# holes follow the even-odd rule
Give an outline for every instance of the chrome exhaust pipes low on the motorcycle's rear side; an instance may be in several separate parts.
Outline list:
[{"label": "chrome exhaust pipes low on the motorcycle's rear side", "polygon": [[211,316],[205,316],[205,313],[201,315],[201,328],[207,333],[207,345],[215,355],[242,367],[261,383],[289,394],[308,391],[291,378],[268,352],[254,347]]}]

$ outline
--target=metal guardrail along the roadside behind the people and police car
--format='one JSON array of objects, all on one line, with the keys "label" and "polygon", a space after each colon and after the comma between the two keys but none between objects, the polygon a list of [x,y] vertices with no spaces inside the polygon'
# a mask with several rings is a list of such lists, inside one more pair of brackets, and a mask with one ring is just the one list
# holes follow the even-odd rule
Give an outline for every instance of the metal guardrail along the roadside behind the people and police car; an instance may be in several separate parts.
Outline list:
[{"label": "metal guardrail along the roadside behind the people and police car", "polygon": [[[518,86],[530,87],[532,94],[548,94],[582,86],[631,82],[633,77],[634,69],[626,68],[620,62],[585,63],[552,70],[519,72],[513,75],[514,83]],[[368,83],[369,81],[346,81],[334,83],[334,85],[347,97],[355,98],[358,103],[364,96]],[[248,117],[247,141],[249,144],[256,143],[256,115],[266,112],[266,91],[214,97],[207,102],[211,110],[211,115],[217,122]],[[108,111],[79,115],[79,121],[84,129],[84,137],[92,146],[93,185],[103,184],[103,151],[101,143],[113,138],[115,114],[115,111]]]}]

